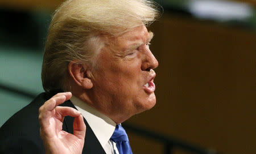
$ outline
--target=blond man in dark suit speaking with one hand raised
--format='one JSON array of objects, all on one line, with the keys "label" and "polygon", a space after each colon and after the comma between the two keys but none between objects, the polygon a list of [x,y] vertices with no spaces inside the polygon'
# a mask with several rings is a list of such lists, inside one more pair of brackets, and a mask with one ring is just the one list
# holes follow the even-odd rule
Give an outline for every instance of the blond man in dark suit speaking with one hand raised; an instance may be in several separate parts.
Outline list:
[{"label": "blond man in dark suit speaking with one hand raised", "polygon": [[[49,26],[42,67],[46,92],[1,127],[1,152],[44,153],[38,109],[56,93],[71,91],[71,100],[65,96],[67,101],[61,105],[79,110],[85,118],[82,153],[123,153],[123,149],[131,153],[128,139],[123,148],[115,136],[119,130],[125,132],[119,123],[151,109],[156,102],[153,69],[158,61],[149,49],[153,33],[146,25],[159,15],[157,9],[146,0],[64,2]],[[76,136],[80,115],[67,114],[76,117],[73,124],[72,117],[63,119],[59,107],[51,112],[57,118],[44,121],[39,117],[41,124],[49,124],[41,127],[44,140],[52,138],[44,133],[51,130],[52,122],[59,123],[58,133],[74,132]]]}]

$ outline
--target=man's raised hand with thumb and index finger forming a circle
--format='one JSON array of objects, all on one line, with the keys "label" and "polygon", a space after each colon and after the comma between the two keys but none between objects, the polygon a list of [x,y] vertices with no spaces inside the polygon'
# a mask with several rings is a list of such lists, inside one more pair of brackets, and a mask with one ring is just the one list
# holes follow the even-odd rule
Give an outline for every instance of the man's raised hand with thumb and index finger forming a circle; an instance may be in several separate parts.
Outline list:
[{"label": "man's raised hand with thumb and index finger forming a circle", "polygon": [[[85,138],[85,123],[76,109],[57,106],[71,98],[71,92],[57,93],[39,109],[40,136],[46,153],[82,153]],[[65,116],[75,117],[73,134],[62,130]]]}]

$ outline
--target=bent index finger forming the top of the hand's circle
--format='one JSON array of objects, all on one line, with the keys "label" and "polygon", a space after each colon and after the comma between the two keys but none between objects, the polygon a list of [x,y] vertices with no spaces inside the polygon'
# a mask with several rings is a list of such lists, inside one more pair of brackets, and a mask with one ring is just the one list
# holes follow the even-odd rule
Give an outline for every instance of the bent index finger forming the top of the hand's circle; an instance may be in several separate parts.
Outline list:
[{"label": "bent index finger forming the top of the hand's circle", "polygon": [[78,110],[67,106],[56,106],[55,110],[58,119],[62,119],[68,115],[71,117],[78,117],[81,114]]}]

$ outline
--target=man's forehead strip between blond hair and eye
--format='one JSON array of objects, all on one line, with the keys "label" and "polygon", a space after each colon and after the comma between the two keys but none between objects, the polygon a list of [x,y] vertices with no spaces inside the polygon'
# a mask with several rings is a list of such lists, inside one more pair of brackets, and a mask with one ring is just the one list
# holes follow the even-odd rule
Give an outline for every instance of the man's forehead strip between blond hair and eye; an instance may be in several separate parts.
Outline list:
[{"label": "man's forehead strip between blond hair and eye", "polygon": [[143,25],[141,27],[135,27],[128,32],[123,33],[119,36],[109,37],[109,45],[114,45],[116,47],[126,48],[133,44],[142,44],[148,42],[153,37],[152,32],[148,32],[147,28]]}]

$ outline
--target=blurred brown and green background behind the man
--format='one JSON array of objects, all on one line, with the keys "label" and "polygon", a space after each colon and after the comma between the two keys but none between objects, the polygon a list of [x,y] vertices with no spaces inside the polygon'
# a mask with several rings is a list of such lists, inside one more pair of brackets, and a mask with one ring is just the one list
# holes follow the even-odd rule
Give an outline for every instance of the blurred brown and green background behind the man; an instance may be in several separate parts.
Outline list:
[{"label": "blurred brown and green background behind the man", "polygon": [[[61,2],[0,0],[0,126],[43,92],[44,42]],[[256,153],[256,1],[156,2],[157,102],[123,123],[134,153]]]}]

